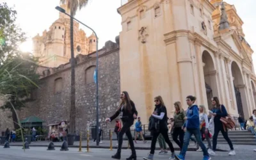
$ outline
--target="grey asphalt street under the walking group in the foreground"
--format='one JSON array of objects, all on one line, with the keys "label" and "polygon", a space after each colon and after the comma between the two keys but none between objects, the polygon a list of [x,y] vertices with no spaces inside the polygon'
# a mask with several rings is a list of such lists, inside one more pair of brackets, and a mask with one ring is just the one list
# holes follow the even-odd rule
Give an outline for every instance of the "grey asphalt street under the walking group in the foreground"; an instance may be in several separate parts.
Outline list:
[{"label": "grey asphalt street under the walking group in the foreground", "polygon": [[[24,152],[21,147],[1,147],[0,160],[110,160],[111,155],[115,154],[116,150],[110,151],[108,149],[93,148],[90,152],[85,151],[85,148],[83,148],[83,152],[78,152],[77,148],[69,148],[68,151],[60,151],[60,148],[56,148],[56,150],[48,151],[45,147],[31,147]],[[147,156],[148,152],[149,150],[138,150],[137,159],[143,159],[143,156]],[[170,156],[170,154],[158,155],[157,152],[159,151],[156,150],[154,160],[167,160]],[[236,150],[236,152],[236,156],[228,156],[228,152],[217,152],[217,155],[212,157],[212,160],[256,159],[256,152],[253,152],[253,148]],[[131,150],[122,150],[122,159],[126,159],[130,154]],[[187,152],[186,159],[200,160],[202,159],[202,152]]]}]

